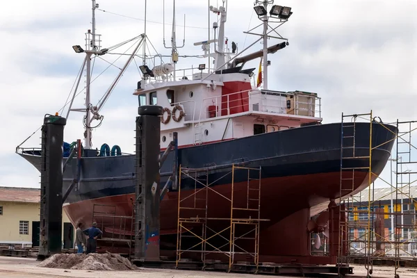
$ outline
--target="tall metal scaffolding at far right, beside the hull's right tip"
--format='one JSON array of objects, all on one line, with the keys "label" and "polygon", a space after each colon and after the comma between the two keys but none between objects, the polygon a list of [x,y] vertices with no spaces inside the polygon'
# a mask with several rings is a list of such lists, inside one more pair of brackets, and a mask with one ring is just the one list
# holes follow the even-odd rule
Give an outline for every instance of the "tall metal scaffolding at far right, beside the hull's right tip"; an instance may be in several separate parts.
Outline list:
[{"label": "tall metal scaffolding at far right, beside the hull's right tip", "polygon": [[[346,117],[352,117],[352,121],[345,122]],[[367,154],[364,153],[363,146],[360,148],[356,146],[356,126],[359,119],[370,122]],[[414,154],[416,147],[411,142],[411,133],[417,130],[416,123],[397,120],[391,124],[391,126],[396,126],[398,130],[398,133],[394,133],[395,137],[392,140],[387,139],[386,142],[379,143],[379,145],[375,145],[375,143],[373,145],[373,124],[374,127],[375,124],[379,124],[389,131],[391,129],[382,121],[375,121],[372,111],[361,115],[342,114],[340,195],[343,196],[344,190],[354,189],[355,179],[358,178],[355,175],[359,172],[368,172],[366,177],[368,185],[367,189],[361,193],[350,195],[347,199],[339,198],[339,203],[345,205],[345,214],[347,215],[346,221],[340,223],[339,238],[343,238],[343,235],[347,234],[345,236],[347,251],[343,254],[342,249],[339,248],[338,265],[361,259],[360,262],[366,266],[368,277],[370,277],[373,273],[375,260],[391,259],[395,263],[394,277],[398,277],[397,270],[402,257],[406,255],[416,259],[417,200],[414,199],[416,196],[413,196],[414,190],[411,189],[412,184],[417,181],[411,177],[417,174],[415,168],[417,156]],[[396,141],[396,148],[395,152],[393,151],[395,158],[389,159],[391,161],[391,182],[389,182],[373,172],[373,151],[384,144],[393,143],[393,140]],[[361,161],[360,167],[349,167],[352,160]],[[393,161],[396,163],[395,171],[392,167]],[[403,170],[403,165],[414,167],[414,169]],[[392,179],[393,173],[396,176],[395,183]],[[379,179],[379,183],[386,183],[389,188],[375,188],[376,179]],[[389,202],[388,196],[391,196],[391,202]],[[404,218],[407,221],[404,222]],[[386,231],[385,220],[391,222],[389,225],[391,231],[389,232]],[[407,234],[407,237],[404,234]],[[343,244],[343,239],[340,239],[339,243]]]}]

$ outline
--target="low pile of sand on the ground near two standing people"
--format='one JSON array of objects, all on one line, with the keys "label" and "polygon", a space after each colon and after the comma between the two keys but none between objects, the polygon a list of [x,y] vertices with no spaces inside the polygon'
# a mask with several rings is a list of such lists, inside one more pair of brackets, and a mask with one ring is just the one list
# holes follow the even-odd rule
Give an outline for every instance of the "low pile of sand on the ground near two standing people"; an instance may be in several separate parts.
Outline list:
[{"label": "low pile of sand on the ground near two standing people", "polygon": [[72,270],[138,270],[136,265],[119,254],[54,254],[38,265],[41,268]]}]

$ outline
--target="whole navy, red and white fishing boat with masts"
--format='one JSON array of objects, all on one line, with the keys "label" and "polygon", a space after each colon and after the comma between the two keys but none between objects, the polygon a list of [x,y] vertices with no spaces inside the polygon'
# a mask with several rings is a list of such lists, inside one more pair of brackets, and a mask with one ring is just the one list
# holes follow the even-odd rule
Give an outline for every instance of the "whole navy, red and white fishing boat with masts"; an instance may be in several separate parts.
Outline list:
[{"label": "whole navy, red and white fishing boat with masts", "polygon": [[[369,184],[368,170],[358,170],[352,179],[352,188],[341,191],[343,124],[322,124],[321,101],[317,93],[302,90],[284,92],[271,89],[268,85],[271,80],[268,67],[272,67],[268,55],[285,51],[289,45],[288,39],[277,35],[275,30],[291,17],[291,8],[272,6],[271,1],[256,1],[254,13],[261,20],[263,31],[258,40],[238,51],[238,45],[235,42],[230,44],[225,37],[227,13],[233,13],[233,10],[227,11],[227,1],[222,2],[222,6],[208,7],[219,19],[213,22],[213,38],[194,43],[196,47],[202,47],[202,56],[208,59],[208,65],[201,63],[198,67],[178,68],[181,56],[173,20],[170,63],[151,67],[144,58],[139,67],[140,80],[138,78],[138,83],[132,86],[133,98],[138,101],[138,106],[163,107],[159,142],[161,155],[170,147],[174,132],[178,134],[177,152],[168,155],[160,170],[160,190],[164,191],[161,195],[161,249],[172,250],[177,236],[179,188],[175,186],[177,181],[167,183],[173,175],[176,157],[181,167],[206,169],[205,178],[211,181],[210,187],[224,194],[230,190],[231,177],[221,177],[230,171],[232,165],[260,168],[260,213],[261,218],[268,219],[260,228],[261,258],[282,262],[286,260],[284,256],[297,256],[307,258],[304,262],[311,262],[309,220],[324,211],[332,200],[343,199],[366,188]],[[79,222],[89,225],[96,221],[99,227],[104,225],[105,233],[125,236],[126,226],[132,225],[133,219],[127,224],[124,222],[124,228],[119,229],[117,225],[121,225],[120,222],[106,226],[104,220],[93,217],[93,210],[96,205],[113,205],[114,215],[133,215],[135,155],[123,154],[118,146],[112,149],[108,145],[101,146],[99,150],[93,148],[92,122],[103,120],[101,108],[140,46],[144,46],[147,35],[145,29],[145,33],[136,38],[138,43],[120,74],[102,101],[93,106],[89,87],[90,60],[113,50],[111,47],[103,49],[99,44],[101,40],[95,33],[96,8],[98,4],[92,0],[92,29],[86,33],[85,49],[74,46],[76,52],[85,54],[83,68],[87,69],[87,97],[85,108],[77,110],[70,107],[68,111],[85,113],[85,133],[81,162],[73,159],[67,163],[63,173],[63,192],[71,188],[65,196],[63,208],[74,225]],[[274,22],[277,27],[271,27]],[[277,40],[277,43],[268,46],[270,39]],[[259,42],[262,42],[263,49],[245,54]],[[245,67],[252,60],[261,60],[258,70],[256,67]],[[82,75],[81,71],[78,83]],[[135,116],[132,115],[132,120]],[[395,133],[395,126],[357,122],[354,133],[350,134],[354,137],[354,152],[357,154],[365,156],[369,153],[370,137],[372,145],[376,146],[371,156],[371,182],[386,165]],[[17,153],[40,169],[39,149],[19,147]],[[69,154],[67,144],[64,161],[70,159]],[[348,161],[347,167],[366,168],[368,162],[363,158],[354,158]],[[75,185],[74,177],[77,177]],[[247,198],[245,190],[239,190],[245,188],[246,182],[245,174],[235,174],[237,191],[234,199],[237,204]],[[165,187],[167,184],[168,188]],[[182,192],[195,188],[195,181],[190,177],[183,177],[180,184]],[[224,208],[227,207],[227,200],[221,197],[213,197],[208,202],[208,209],[213,211],[215,217],[227,217],[224,215],[227,213]],[[101,244],[103,246],[105,243]]]}]

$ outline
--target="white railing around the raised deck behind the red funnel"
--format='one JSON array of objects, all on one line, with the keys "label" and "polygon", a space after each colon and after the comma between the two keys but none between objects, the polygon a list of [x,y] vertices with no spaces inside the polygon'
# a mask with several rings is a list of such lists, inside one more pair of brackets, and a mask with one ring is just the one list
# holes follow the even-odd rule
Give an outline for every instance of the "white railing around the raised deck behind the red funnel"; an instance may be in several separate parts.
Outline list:
[{"label": "white railing around the raised deck behind the red funnel", "polygon": [[321,117],[321,101],[316,95],[300,92],[245,90],[203,99],[200,120],[242,112],[266,112]]}]

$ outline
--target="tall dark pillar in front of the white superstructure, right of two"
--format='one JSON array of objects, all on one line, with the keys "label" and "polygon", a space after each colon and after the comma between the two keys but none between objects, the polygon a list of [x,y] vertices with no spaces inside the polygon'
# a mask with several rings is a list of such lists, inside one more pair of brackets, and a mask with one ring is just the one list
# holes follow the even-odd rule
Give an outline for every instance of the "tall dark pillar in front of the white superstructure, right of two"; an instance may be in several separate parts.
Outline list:
[{"label": "tall dark pillar in front of the white superstructure, right of two", "polygon": [[136,117],[135,261],[160,261],[161,106],[140,106]]}]

